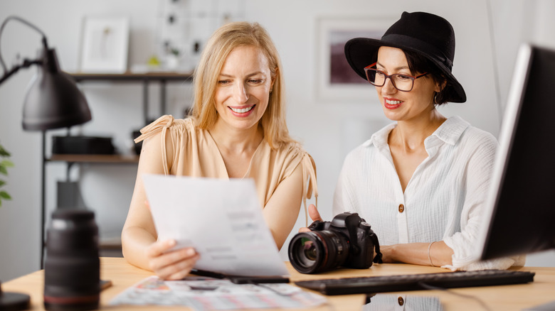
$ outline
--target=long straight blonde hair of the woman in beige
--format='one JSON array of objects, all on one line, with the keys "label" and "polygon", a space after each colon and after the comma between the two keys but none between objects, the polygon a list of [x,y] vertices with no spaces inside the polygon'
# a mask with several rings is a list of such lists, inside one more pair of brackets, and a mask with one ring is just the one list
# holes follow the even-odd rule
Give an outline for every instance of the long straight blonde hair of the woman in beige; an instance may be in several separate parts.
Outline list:
[{"label": "long straight blonde hair of the woman in beige", "polygon": [[280,57],[268,32],[258,23],[244,21],[228,23],[218,28],[206,43],[193,75],[192,118],[196,121],[196,126],[210,129],[216,123],[218,115],[215,97],[221,68],[234,48],[245,45],[262,50],[268,58],[270,74],[274,79],[268,107],[260,119],[265,140],[271,148],[277,148],[282,143],[295,142],[289,136],[285,121],[285,86]]}]

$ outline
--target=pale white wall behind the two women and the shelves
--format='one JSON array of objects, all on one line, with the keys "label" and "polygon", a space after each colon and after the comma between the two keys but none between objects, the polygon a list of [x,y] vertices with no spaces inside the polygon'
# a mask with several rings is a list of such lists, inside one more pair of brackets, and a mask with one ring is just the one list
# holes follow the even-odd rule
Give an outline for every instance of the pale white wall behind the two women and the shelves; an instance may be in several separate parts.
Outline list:
[{"label": "pale white wall behind the two women and the shelves", "polygon": [[[550,32],[545,29],[553,29],[554,21],[549,16],[555,8],[549,0],[491,0],[491,6],[492,18],[488,15],[486,0],[246,0],[246,18],[265,26],[280,50],[287,84],[288,125],[292,135],[304,142],[317,163],[319,208],[325,219],[332,217],[332,194],[344,155],[369,138],[386,120],[381,108],[371,100],[319,101],[315,94],[318,19],[386,17],[396,21],[402,11],[429,11],[444,16],[455,28],[457,50],[453,71],[465,87],[468,100],[465,104],[449,104],[441,111],[446,116],[460,115],[497,136],[502,111],[499,102],[507,97],[517,45],[522,40],[554,45],[555,38],[549,38]],[[137,63],[154,53],[158,9],[157,0],[2,0],[0,20],[18,15],[32,21],[58,51],[63,69],[72,71],[78,67],[83,16],[130,16],[129,58],[130,63]],[[495,36],[491,36],[490,22]],[[27,57],[35,55],[40,37],[25,26],[11,22],[2,33],[0,46],[4,60],[11,64],[18,52]],[[0,141],[11,151],[16,164],[10,170],[6,187],[14,200],[6,201],[0,208],[0,280],[4,281],[39,268],[41,139],[38,133],[21,129],[21,106],[32,74],[33,70],[22,70],[0,86]],[[499,77],[498,88],[496,77]],[[120,151],[127,152],[131,131],[142,126],[139,84],[86,83],[83,91],[93,111],[93,121],[73,131],[114,136]],[[150,91],[150,98],[156,103],[157,87],[153,85]],[[374,96],[374,90],[369,87],[368,98]],[[179,116],[190,98],[189,86],[170,85],[169,113]],[[159,114],[155,107],[150,111],[152,118]],[[52,133],[64,134],[63,131]],[[97,213],[102,237],[119,234],[135,173],[132,166],[82,165],[72,169],[72,178],[80,177],[85,202]],[[65,179],[65,165],[49,164],[47,174],[48,208],[53,209],[56,180]],[[304,213],[301,213],[297,227],[304,224]],[[553,266],[555,253],[531,258],[529,264],[533,266]]]}]

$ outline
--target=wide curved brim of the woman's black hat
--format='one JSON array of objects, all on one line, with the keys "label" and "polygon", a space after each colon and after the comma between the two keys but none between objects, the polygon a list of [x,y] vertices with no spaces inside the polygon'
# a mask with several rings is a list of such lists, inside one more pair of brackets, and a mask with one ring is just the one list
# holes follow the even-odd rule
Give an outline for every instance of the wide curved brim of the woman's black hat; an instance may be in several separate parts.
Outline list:
[{"label": "wide curved brim of the woman's black hat", "polygon": [[435,56],[425,53],[423,52],[423,50],[418,50],[408,45],[391,43],[384,40],[372,38],[354,38],[345,43],[345,58],[347,58],[347,62],[349,62],[349,65],[354,70],[354,72],[356,72],[357,75],[366,80],[364,67],[370,65],[373,62],[376,62],[378,50],[382,46],[400,48],[401,50],[410,50],[423,55],[425,58],[428,58],[428,60],[438,66],[443,75],[445,75],[445,77],[449,80],[450,83],[448,83],[448,87],[453,88],[454,92],[451,92],[451,94],[453,95],[445,100],[447,102],[466,102],[465,89],[462,88],[462,85],[458,82],[453,73],[451,73],[451,70],[447,66],[445,66],[443,62],[439,62]]}]

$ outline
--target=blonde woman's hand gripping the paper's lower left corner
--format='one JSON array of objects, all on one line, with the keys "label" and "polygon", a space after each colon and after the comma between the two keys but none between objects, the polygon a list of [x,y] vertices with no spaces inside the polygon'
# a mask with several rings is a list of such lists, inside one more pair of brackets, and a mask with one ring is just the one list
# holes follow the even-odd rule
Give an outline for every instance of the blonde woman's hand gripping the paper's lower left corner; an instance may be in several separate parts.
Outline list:
[{"label": "blonde woman's hand gripping the paper's lower left corner", "polygon": [[200,255],[192,247],[169,251],[175,240],[156,241],[145,251],[149,268],[164,280],[181,280],[194,267]]}]

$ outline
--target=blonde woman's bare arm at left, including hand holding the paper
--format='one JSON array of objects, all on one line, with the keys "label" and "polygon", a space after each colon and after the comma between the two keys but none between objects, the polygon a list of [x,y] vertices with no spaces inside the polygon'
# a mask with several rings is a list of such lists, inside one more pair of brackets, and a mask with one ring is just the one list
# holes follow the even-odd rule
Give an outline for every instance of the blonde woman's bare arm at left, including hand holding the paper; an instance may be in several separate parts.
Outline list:
[{"label": "blonde woman's bare arm at left, including hand holding the paper", "polygon": [[142,180],[145,173],[164,174],[161,140],[162,135],[154,135],[143,143],[137,180],[122,229],[122,251],[125,259],[134,266],[154,271],[160,278],[179,280],[191,271],[199,256],[191,248],[169,251],[175,246],[174,240],[157,241]]}]

